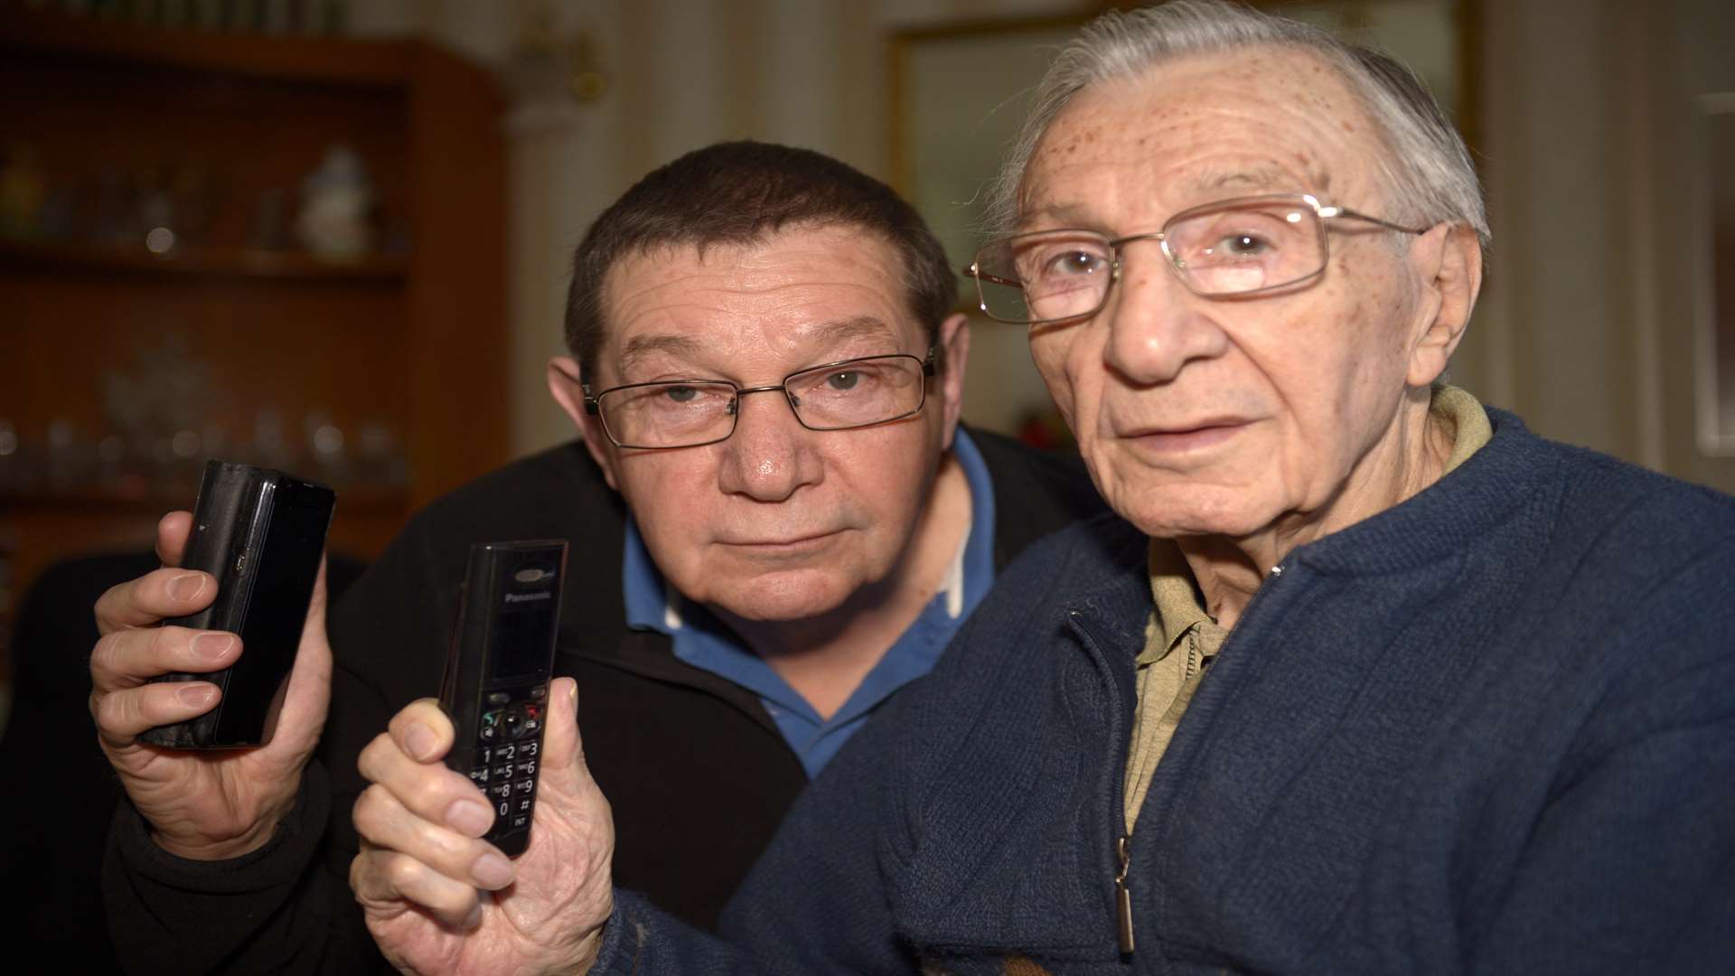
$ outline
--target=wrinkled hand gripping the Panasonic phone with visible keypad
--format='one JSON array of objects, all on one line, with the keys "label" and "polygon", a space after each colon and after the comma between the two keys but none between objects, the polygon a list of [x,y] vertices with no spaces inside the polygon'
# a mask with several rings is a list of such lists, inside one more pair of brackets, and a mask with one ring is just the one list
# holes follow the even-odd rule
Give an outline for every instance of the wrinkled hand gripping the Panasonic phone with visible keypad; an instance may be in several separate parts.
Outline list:
[{"label": "wrinkled hand gripping the Panasonic phone with visible keypad", "polygon": [[[517,861],[479,837],[493,808],[444,766],[453,726],[423,698],[361,754],[361,854],[349,870],[368,931],[406,973],[583,973],[614,908],[614,820],[578,738],[578,684],[548,693],[531,842]],[[562,707],[564,705],[564,707]]]}]

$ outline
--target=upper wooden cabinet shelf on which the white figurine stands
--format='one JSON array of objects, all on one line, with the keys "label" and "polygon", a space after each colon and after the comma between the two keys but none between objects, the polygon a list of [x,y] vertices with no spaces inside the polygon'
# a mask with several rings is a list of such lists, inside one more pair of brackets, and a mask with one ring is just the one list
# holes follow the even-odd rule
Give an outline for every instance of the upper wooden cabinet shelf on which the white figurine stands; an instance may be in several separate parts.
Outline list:
[{"label": "upper wooden cabinet shelf on which the white figurine stands", "polygon": [[33,273],[49,274],[187,274],[390,285],[406,280],[409,259],[404,255],[366,255],[352,260],[333,260],[307,252],[236,247],[184,247],[168,254],[151,254],[142,247],[0,238],[0,267],[28,267]]}]

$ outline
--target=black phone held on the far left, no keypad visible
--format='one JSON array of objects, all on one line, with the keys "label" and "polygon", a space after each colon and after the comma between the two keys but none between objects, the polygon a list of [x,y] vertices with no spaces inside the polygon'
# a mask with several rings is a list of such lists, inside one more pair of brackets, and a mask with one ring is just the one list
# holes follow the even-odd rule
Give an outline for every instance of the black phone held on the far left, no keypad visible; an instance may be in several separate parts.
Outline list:
[{"label": "black phone held on the far left, no keypad visible", "polygon": [[200,613],[163,623],[238,634],[241,656],[210,674],[153,677],[210,681],[222,689],[222,700],[194,719],[147,729],[139,742],[170,748],[271,742],[335,505],[337,495],[314,481],[248,464],[205,464],[180,564],[217,577],[217,599]]}]

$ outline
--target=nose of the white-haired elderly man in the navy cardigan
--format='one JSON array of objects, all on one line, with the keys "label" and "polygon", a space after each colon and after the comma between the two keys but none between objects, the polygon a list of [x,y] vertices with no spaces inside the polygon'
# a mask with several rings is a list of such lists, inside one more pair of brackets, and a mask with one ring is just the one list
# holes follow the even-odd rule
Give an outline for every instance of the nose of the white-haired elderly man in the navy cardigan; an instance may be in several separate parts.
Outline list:
[{"label": "nose of the white-haired elderly man in the navy cardigan", "polygon": [[1133,260],[1121,254],[1103,359],[1135,386],[1157,386],[1194,359],[1221,354],[1228,337],[1214,318],[1216,306],[1187,290],[1157,241],[1138,243]]}]

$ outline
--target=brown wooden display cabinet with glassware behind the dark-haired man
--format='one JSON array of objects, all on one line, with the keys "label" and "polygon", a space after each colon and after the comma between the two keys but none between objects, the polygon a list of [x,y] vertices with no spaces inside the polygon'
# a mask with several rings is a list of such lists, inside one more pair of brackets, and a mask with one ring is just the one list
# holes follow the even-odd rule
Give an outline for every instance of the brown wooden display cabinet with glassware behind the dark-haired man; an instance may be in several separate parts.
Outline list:
[{"label": "brown wooden display cabinet with glassware behind the dark-haired man", "polygon": [[[56,557],[147,545],[158,514],[191,505],[206,453],[271,453],[335,481],[331,545],[361,557],[503,462],[500,108],[488,75],[420,42],[0,3],[0,557],[14,594]],[[293,221],[302,179],[337,144],[375,198],[375,247],[344,260],[262,229],[271,210]],[[5,222],[33,191],[47,215]],[[134,221],[141,193],[180,210],[165,254],[146,247],[153,215]]]}]

